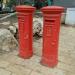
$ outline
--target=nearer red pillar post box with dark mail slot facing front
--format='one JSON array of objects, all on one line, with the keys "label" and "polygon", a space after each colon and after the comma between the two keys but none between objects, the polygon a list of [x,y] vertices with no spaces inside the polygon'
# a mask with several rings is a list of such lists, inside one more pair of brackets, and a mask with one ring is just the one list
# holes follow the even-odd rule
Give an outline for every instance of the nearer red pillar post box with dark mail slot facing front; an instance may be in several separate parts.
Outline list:
[{"label": "nearer red pillar post box with dark mail slot facing front", "polygon": [[60,30],[61,13],[63,7],[47,6],[41,9],[44,17],[43,29],[43,53],[41,63],[48,67],[54,67],[58,63],[58,40]]}]

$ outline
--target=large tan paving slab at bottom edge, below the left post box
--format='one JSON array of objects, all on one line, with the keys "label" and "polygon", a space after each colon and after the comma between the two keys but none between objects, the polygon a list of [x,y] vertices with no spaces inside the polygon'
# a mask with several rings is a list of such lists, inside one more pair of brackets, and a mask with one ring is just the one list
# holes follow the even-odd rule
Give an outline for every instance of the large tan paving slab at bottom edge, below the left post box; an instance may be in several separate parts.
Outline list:
[{"label": "large tan paving slab at bottom edge, below the left post box", "polygon": [[11,71],[17,75],[29,75],[32,70],[20,65],[10,65],[6,70]]}]

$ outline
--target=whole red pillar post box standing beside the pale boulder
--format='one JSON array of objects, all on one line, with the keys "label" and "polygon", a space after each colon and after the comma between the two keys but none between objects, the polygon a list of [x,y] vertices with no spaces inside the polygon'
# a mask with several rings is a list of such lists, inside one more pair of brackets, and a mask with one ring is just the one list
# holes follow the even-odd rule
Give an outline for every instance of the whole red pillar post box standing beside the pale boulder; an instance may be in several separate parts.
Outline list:
[{"label": "whole red pillar post box standing beside the pale boulder", "polygon": [[22,58],[29,58],[32,51],[32,21],[35,7],[19,5],[16,6],[19,24],[19,55]]}]

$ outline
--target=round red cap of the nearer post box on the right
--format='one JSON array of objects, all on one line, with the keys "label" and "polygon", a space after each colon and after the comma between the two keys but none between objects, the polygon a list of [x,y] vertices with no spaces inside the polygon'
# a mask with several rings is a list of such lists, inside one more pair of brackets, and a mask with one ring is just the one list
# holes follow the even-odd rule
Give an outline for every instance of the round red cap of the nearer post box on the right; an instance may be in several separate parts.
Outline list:
[{"label": "round red cap of the nearer post box on the right", "polygon": [[43,7],[41,9],[43,12],[63,12],[64,11],[64,7],[60,7],[60,6],[46,6]]}]

